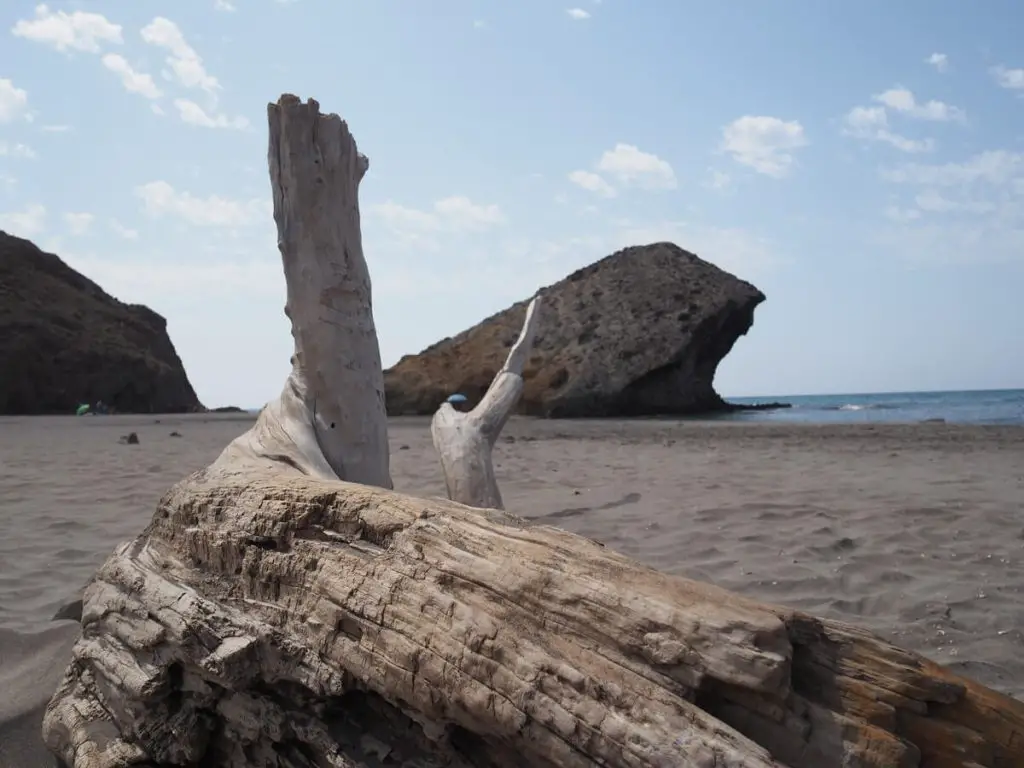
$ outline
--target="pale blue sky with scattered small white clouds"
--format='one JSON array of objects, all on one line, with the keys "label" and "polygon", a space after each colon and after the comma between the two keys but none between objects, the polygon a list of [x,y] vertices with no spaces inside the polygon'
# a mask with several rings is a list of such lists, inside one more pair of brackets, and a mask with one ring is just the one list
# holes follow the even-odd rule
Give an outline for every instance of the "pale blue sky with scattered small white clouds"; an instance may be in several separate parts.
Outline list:
[{"label": "pale blue sky with scattered small white clouds", "polygon": [[207,404],[291,337],[266,103],[371,168],[385,365],[618,247],[767,295],[726,395],[1024,386],[1012,0],[0,5],[0,228],[148,304]]}]

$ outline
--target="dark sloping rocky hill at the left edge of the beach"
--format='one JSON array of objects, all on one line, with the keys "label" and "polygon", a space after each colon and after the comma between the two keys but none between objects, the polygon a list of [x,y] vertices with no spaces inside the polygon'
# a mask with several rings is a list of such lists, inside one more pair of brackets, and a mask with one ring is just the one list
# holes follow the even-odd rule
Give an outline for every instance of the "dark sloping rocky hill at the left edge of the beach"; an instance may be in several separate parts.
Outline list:
[{"label": "dark sloping rocky hill at the left edge of the beach", "polygon": [[0,413],[201,410],[167,322],[0,231]]}]

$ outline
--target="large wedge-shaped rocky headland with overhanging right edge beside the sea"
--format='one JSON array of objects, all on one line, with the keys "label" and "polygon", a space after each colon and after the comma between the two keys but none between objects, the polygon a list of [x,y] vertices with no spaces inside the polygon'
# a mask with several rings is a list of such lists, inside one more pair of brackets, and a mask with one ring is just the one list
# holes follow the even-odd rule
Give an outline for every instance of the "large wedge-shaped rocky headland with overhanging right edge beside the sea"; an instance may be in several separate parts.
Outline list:
[{"label": "large wedge-shaped rocky headland with overhanging right edge beside the sea", "polygon": [[[730,410],[715,392],[715,371],[765,299],[671,243],[627,248],[542,295],[519,412],[554,418]],[[384,374],[388,414],[430,414],[453,392],[475,402],[505,361],[526,304],[402,357]]]}]

